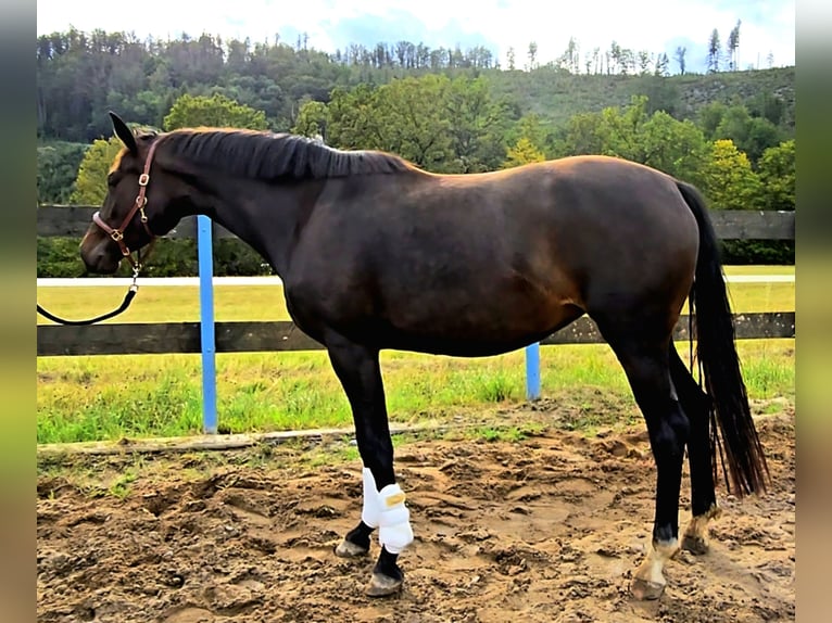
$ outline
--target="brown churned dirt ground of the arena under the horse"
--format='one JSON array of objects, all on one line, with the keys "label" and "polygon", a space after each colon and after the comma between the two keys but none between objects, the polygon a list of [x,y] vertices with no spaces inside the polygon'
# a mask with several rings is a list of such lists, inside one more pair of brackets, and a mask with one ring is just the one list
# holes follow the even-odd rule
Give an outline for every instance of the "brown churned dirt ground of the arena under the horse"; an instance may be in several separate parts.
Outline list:
[{"label": "brown churned dirt ground of the arena under the horse", "polygon": [[[41,467],[38,621],[792,621],[794,412],[758,422],[771,491],[740,503],[720,488],[710,554],[680,554],[651,602],[628,594],[653,518],[639,429],[402,445],[416,541],[383,600],[364,596],[377,542],[366,559],[332,554],[361,512],[355,460],[299,465],[280,446]],[[689,491],[685,476],[682,526]]]}]

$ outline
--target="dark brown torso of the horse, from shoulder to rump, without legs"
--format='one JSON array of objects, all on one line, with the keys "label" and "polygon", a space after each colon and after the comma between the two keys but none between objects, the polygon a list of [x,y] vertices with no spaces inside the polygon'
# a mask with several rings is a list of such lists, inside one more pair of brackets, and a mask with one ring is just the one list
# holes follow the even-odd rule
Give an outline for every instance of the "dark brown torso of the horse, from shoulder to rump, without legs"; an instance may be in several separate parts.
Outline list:
[{"label": "dark brown torso of the horse, from shoulder to rump, without legs", "polygon": [[604,157],[356,178],[315,212],[292,307],[447,354],[510,349],[612,304],[673,308],[698,242],[672,178]]}]

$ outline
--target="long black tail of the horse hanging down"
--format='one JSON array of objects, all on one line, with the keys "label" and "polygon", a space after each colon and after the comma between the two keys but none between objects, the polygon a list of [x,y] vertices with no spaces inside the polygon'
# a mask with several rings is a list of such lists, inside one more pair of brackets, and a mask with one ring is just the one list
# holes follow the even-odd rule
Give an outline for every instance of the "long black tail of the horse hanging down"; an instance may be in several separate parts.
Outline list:
[{"label": "long black tail of the horse hanging down", "polygon": [[[736,355],[731,305],[722,274],[719,243],[707,213],[705,201],[691,185],[677,181],[679,191],[693,212],[699,227],[699,254],[691,289],[690,314],[696,320],[696,358],[701,382],[710,396],[710,456],[714,479],[717,479],[717,450],[739,497],[766,490],[768,466],[762,453],[754,419],[748,408],[740,358]],[[693,338],[691,338],[693,339]],[[719,434],[717,425],[719,424]],[[720,444],[721,436],[721,444]],[[722,447],[724,446],[724,456]]]}]

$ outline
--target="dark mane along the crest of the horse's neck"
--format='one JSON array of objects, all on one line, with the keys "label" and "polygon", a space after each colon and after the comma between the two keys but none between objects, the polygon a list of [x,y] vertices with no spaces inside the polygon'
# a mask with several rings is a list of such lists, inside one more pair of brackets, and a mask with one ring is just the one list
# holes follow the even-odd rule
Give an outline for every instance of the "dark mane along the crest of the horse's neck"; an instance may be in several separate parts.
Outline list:
[{"label": "dark mane along the crest of the horse's neck", "polygon": [[249,178],[324,179],[388,174],[414,168],[402,157],[379,151],[343,151],[289,134],[198,128],[161,135],[160,148],[174,157]]}]

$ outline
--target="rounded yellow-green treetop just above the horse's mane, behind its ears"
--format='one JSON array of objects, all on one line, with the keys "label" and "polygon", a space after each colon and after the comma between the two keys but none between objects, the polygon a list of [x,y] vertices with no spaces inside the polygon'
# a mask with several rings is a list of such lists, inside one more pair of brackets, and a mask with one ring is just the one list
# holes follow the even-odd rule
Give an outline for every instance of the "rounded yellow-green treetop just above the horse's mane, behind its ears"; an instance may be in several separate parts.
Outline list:
[{"label": "rounded yellow-green treetop just above the horse's mane, behind its ears", "polygon": [[210,98],[186,93],[174,102],[164,119],[164,128],[168,131],[200,126],[265,130],[268,123],[263,111],[256,111],[219,93]]}]

